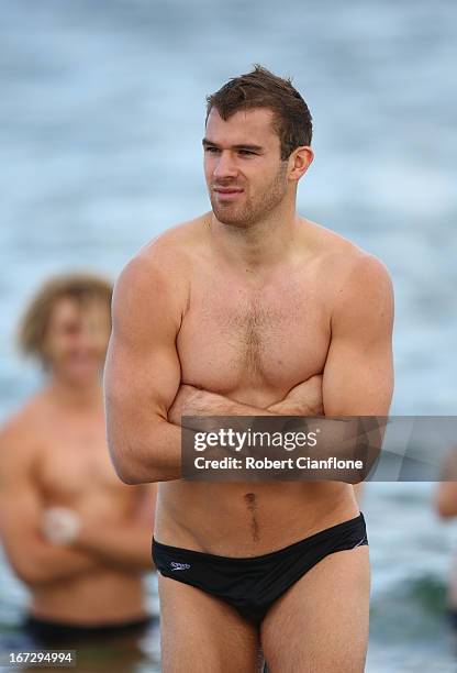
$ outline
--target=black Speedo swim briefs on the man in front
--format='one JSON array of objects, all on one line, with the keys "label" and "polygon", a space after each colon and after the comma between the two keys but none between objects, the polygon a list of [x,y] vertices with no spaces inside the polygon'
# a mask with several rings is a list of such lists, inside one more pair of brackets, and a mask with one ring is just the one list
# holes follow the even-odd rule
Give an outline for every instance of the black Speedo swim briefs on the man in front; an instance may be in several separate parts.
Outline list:
[{"label": "black Speedo swim briefs on the man in front", "polygon": [[219,556],[161,544],[153,538],[153,559],[165,577],[222,598],[259,625],[272,603],[322,559],[361,544],[368,544],[368,539],[360,512],[354,519],[261,556]]}]

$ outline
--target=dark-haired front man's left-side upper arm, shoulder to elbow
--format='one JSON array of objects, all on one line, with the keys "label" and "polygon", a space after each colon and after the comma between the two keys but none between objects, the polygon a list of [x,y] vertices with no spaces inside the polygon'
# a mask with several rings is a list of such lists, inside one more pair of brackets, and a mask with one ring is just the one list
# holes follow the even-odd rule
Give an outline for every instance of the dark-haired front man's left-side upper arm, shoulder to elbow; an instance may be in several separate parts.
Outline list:
[{"label": "dark-haired front man's left-side upper arm, shoulder to elbow", "polygon": [[129,484],[154,453],[179,388],[180,301],[166,274],[147,260],[131,262],[114,289],[104,369],[107,434],[116,473]]}]

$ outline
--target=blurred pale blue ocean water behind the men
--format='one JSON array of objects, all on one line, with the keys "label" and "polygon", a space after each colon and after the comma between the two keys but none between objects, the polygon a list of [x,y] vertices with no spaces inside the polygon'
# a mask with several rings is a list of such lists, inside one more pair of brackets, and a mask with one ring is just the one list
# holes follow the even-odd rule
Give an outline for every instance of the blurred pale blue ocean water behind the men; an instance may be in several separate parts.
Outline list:
[{"label": "blurred pale blue ocean water behind the men", "polygon": [[[2,2],[0,419],[40,385],[13,346],[24,301],[58,271],[115,277],[209,208],[204,96],[257,62],[291,75],[314,117],[299,211],[391,272],[392,412],[454,415],[456,37],[453,0]],[[444,621],[456,528],[431,511],[433,490],[367,486],[369,673],[456,670]],[[25,600],[0,561],[0,635]]]}]

